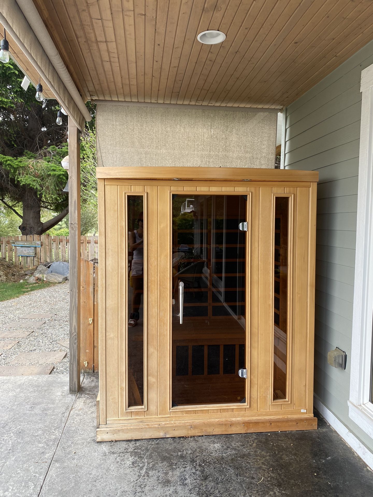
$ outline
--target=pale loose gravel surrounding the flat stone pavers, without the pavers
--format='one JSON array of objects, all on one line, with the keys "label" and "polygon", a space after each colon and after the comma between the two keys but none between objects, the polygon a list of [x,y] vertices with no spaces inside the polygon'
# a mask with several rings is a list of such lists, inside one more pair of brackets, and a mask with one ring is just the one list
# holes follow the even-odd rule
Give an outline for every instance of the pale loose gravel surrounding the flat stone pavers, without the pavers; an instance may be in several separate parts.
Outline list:
[{"label": "pale loose gravel surrounding the flat stone pavers, without the pavers", "polygon": [[12,321],[24,321],[20,320],[19,316],[36,313],[50,313],[53,316],[25,338],[0,338],[0,341],[19,340],[11,349],[0,351],[2,352],[0,366],[7,366],[21,352],[64,351],[67,352],[66,357],[59,364],[55,364],[51,374],[68,374],[69,349],[57,343],[56,340],[69,339],[69,282],[59,283],[26,293],[16,299],[0,302],[0,331],[10,330],[5,329],[4,325]]}]

